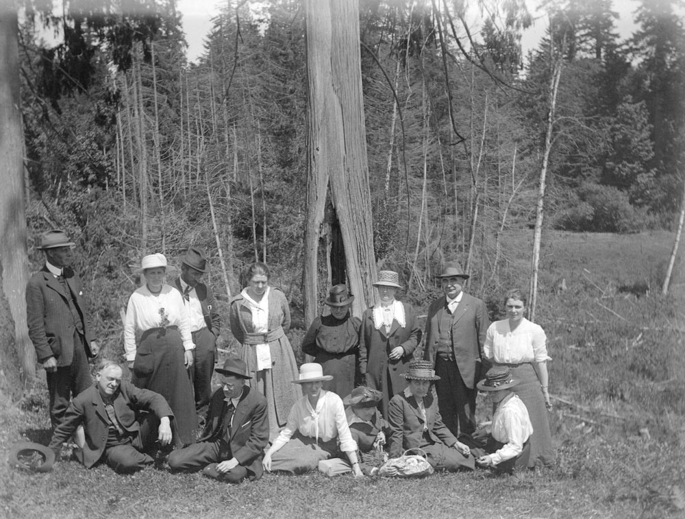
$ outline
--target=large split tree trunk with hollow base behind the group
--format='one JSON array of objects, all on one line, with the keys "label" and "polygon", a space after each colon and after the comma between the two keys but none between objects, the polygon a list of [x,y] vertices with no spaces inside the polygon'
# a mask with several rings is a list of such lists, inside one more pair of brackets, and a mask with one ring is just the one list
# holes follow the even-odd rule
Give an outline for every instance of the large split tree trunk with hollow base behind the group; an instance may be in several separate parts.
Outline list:
[{"label": "large split tree trunk with hollow base behind the group", "polygon": [[316,317],[319,228],[327,185],[340,222],[353,315],[373,302],[375,260],[371,195],[354,0],[307,0],[308,186],[303,298],[305,324]]}]

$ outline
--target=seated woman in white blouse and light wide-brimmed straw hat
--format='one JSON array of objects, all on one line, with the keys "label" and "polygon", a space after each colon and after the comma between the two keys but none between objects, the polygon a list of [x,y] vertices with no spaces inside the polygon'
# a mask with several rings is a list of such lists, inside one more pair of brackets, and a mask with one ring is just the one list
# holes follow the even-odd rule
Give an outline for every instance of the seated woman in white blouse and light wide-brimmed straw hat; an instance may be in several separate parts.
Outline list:
[{"label": "seated woman in white blouse and light wide-brimmed straw hat", "polygon": [[343,451],[353,474],[364,475],[357,459],[357,444],[347,426],[343,400],[323,389],[323,383],[332,378],[323,374],[321,364],[301,365],[299,378],[292,382],[302,385],[304,396],[292,406],[286,426],[266,451],[264,470],[301,474],[315,470],[319,461]]}]

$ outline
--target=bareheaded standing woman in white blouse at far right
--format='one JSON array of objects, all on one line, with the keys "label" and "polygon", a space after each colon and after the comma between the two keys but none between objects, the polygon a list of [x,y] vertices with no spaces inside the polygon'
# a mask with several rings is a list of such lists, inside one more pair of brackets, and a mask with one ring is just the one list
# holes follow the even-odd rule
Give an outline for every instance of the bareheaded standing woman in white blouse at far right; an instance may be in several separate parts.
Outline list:
[{"label": "bareheaded standing woman in white blouse at far right", "polygon": [[552,446],[547,410],[549,376],[547,374],[547,337],[538,324],[523,317],[525,295],[519,289],[506,294],[507,319],[493,322],[485,339],[485,356],[493,365],[506,365],[519,381],[512,391],[521,398],[533,424],[528,466],[551,466],[555,452]]}]

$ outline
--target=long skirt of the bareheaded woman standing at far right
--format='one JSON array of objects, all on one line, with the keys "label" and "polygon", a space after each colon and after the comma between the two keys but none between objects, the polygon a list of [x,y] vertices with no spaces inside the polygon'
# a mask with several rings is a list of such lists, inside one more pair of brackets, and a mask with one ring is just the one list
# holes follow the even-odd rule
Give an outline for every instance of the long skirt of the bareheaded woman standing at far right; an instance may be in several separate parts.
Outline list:
[{"label": "long skirt of the bareheaded woman standing at far right", "polygon": [[538,376],[532,364],[511,364],[508,366],[514,378],[521,381],[512,387],[512,391],[521,398],[521,402],[523,402],[528,410],[530,423],[533,426],[533,434],[530,435],[529,439],[530,457],[528,458],[528,466],[551,466],[556,455],[552,446],[552,435],[549,431],[545,397],[543,396],[542,389],[540,389]]}]

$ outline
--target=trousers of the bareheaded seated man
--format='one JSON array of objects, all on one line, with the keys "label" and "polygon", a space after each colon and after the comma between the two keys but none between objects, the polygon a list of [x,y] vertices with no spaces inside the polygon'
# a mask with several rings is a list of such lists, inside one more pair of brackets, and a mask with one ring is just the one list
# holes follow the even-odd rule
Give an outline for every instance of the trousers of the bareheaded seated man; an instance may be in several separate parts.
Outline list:
[{"label": "trousers of the bareheaded seated man", "polygon": [[140,430],[134,437],[110,439],[102,459],[115,472],[136,472],[154,463],[151,451],[155,450],[155,439],[160,428],[160,419],[153,413],[145,413],[140,420]]}]

